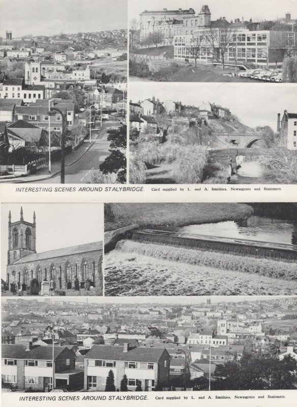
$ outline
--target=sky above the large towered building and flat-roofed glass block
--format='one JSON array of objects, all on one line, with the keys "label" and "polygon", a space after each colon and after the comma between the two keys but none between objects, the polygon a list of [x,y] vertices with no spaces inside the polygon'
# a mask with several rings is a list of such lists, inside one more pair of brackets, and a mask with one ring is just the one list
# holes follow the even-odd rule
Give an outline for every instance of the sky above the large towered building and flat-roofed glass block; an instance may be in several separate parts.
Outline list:
[{"label": "sky above the large towered building and flat-roofed glass block", "polygon": [[183,10],[192,8],[199,14],[201,7],[208,5],[212,20],[226,17],[227,20],[244,17],[253,21],[276,20],[284,18],[286,12],[291,12],[291,18],[297,17],[296,0],[129,0],[129,21],[138,18],[144,10]]}]

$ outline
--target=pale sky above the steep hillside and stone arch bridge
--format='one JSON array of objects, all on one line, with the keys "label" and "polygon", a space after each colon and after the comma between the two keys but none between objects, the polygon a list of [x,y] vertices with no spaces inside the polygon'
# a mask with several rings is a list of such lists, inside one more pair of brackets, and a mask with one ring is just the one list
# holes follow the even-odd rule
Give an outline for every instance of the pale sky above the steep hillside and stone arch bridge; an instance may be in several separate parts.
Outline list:
[{"label": "pale sky above the steep hillside and stone arch bridge", "polygon": [[277,114],[297,111],[297,94],[290,83],[194,83],[130,82],[129,99],[143,101],[155,96],[160,101],[181,101],[199,107],[211,102],[228,107],[232,114],[249,126],[270,126],[276,131]]}]

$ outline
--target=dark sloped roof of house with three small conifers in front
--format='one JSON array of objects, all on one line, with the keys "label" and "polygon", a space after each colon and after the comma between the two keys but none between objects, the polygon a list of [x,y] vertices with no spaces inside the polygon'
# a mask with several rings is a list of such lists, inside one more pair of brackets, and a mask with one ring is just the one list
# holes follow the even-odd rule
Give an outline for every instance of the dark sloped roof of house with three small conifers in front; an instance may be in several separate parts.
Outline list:
[{"label": "dark sloped roof of house with three small conifers in front", "polygon": [[[123,352],[123,346],[94,345],[87,353],[87,359],[123,360],[130,362],[158,362],[165,349],[152,347],[134,347],[128,352]],[[169,354],[167,353],[168,358]]]}]

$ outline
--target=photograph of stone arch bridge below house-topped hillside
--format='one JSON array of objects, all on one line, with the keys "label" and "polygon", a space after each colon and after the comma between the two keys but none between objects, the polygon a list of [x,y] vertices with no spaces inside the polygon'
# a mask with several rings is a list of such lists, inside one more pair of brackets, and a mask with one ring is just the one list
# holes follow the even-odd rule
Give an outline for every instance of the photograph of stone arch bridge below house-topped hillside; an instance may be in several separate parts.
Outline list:
[{"label": "photograph of stone arch bridge below house-topped hillside", "polygon": [[291,85],[130,83],[131,184],[297,184]]}]

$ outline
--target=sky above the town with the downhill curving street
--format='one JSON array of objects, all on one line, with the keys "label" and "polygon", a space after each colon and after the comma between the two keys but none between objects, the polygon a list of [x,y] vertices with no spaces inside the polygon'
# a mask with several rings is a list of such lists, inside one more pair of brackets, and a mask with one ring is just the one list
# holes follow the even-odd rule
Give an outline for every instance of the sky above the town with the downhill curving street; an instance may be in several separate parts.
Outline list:
[{"label": "sky above the town with the downhill curving street", "polygon": [[127,0],[1,0],[0,36],[52,35],[127,28]]}]

